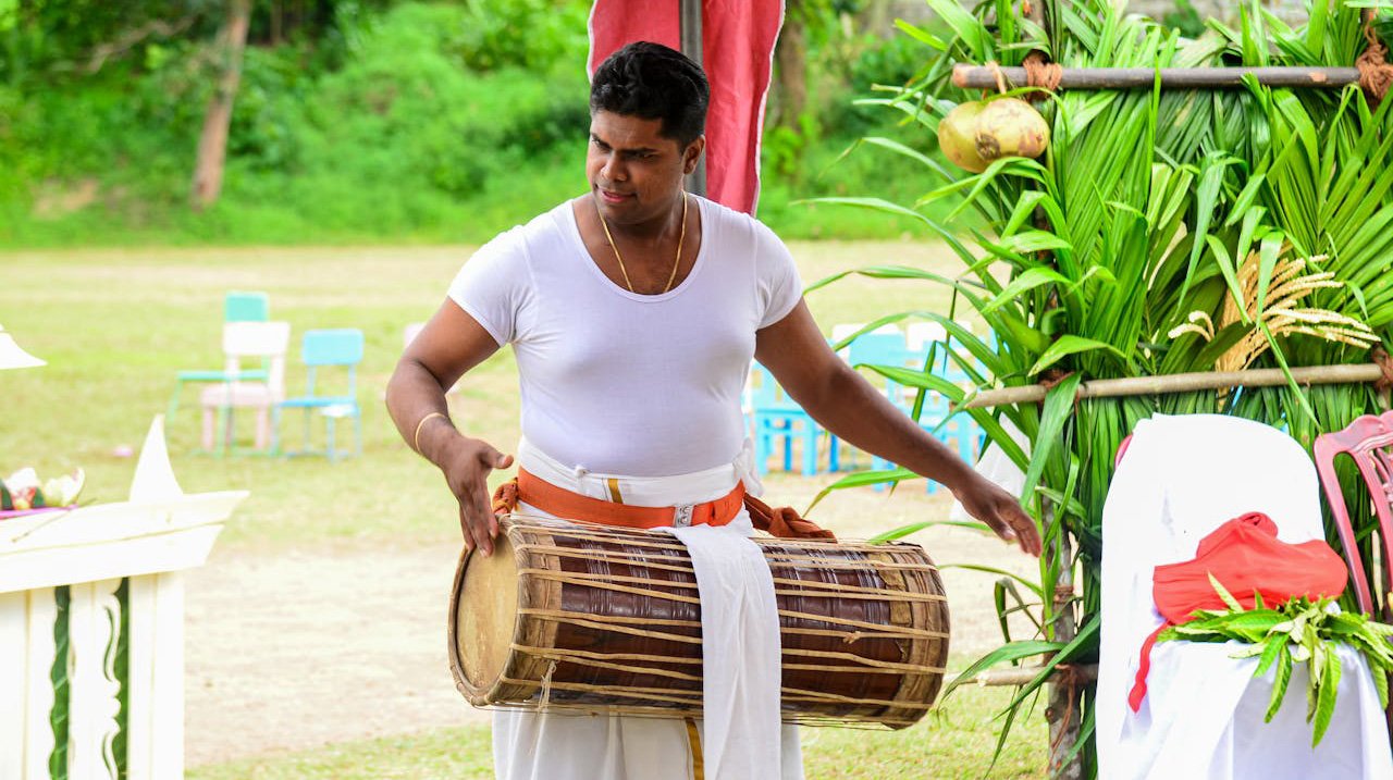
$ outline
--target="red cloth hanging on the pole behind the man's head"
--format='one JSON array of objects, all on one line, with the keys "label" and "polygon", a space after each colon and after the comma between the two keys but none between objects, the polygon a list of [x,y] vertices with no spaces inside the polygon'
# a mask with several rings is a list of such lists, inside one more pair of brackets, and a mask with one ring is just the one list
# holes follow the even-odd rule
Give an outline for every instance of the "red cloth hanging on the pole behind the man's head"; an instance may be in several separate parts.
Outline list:
[{"label": "red cloth hanging on the pole behind the man's head", "polygon": [[[589,72],[627,43],[681,49],[680,0],[595,0]],[[702,68],[710,82],[706,114],[706,196],[748,214],[759,201],[759,136],[780,0],[702,0]]]}]

